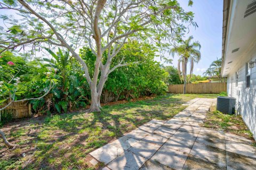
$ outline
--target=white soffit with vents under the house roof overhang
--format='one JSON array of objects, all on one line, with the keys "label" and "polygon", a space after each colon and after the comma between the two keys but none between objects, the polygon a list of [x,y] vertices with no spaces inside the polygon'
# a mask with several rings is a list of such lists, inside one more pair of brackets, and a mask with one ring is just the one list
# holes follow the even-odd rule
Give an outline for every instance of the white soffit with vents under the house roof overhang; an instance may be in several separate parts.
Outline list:
[{"label": "white soffit with vents under the house roof overhang", "polygon": [[237,0],[231,5],[223,77],[250,60],[246,53],[256,42],[256,0]]}]

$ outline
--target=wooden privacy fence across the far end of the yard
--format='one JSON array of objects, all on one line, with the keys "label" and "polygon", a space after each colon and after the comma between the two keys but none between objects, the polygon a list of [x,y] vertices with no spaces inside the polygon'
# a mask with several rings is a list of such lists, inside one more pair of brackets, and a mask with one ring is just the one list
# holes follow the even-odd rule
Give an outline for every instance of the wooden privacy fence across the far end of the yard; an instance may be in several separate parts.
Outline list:
[{"label": "wooden privacy fence across the far end of the yard", "polygon": [[[169,85],[169,93],[183,94],[183,84]],[[187,84],[186,94],[219,94],[221,91],[227,91],[227,83],[198,83]]]}]

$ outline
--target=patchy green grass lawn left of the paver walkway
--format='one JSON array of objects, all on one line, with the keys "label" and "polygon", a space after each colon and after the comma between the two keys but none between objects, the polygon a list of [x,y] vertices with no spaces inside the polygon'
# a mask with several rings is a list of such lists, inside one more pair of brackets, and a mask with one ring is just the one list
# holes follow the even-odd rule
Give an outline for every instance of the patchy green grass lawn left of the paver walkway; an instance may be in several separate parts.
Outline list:
[{"label": "patchy green grass lawn left of the paver walkway", "polygon": [[67,113],[6,124],[7,139],[20,148],[6,151],[0,144],[0,169],[97,169],[89,152],[122,137],[154,119],[169,120],[196,97],[218,95],[158,96],[125,104],[103,106],[103,112]]}]

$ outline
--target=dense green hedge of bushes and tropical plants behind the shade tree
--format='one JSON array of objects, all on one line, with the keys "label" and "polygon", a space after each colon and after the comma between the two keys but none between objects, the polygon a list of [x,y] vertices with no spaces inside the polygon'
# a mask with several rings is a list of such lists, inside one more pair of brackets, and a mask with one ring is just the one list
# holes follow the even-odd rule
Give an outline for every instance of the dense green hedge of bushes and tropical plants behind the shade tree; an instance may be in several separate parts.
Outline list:
[{"label": "dense green hedge of bushes and tropical plants behind the shade tree", "polygon": [[[14,56],[6,52],[0,58],[0,105],[6,103],[10,92],[14,100],[37,98],[49,90],[49,94],[39,100],[31,100],[33,112],[67,112],[90,103],[90,88],[79,63],[68,51],[58,49],[57,53],[47,49],[52,58],[28,61],[25,57]],[[129,63],[118,67],[109,74],[103,88],[101,102],[129,100],[141,96],[159,95],[167,91],[166,83],[170,75],[154,61],[156,48],[145,43],[131,41],[124,45],[115,58],[113,67],[118,63]],[[89,67],[89,74],[94,72],[95,55],[87,47],[80,50],[80,55]],[[107,52],[103,64],[106,63]],[[11,62],[8,64],[8,62]],[[13,79],[12,79],[13,78]],[[10,81],[10,82],[9,82]]]}]

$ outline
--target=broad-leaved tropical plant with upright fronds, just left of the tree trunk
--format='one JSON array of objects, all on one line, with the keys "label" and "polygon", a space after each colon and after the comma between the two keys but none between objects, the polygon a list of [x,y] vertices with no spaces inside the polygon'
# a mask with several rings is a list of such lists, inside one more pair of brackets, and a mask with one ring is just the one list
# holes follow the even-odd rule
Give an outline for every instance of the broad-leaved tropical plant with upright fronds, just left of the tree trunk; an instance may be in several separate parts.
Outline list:
[{"label": "broad-leaved tropical plant with upright fronds, just left of the tree trunk", "polygon": [[45,49],[53,58],[43,58],[43,61],[47,63],[43,66],[52,68],[54,78],[59,80],[57,88],[52,90],[55,98],[47,98],[46,100],[49,103],[48,106],[54,104],[59,113],[61,109],[67,112],[67,109],[71,111],[77,107],[85,107],[88,99],[85,97],[87,95],[84,91],[86,88],[83,83],[81,84],[81,81],[83,81],[82,71],[77,70],[79,68],[78,63],[71,60],[69,51],[62,52],[58,48],[58,53],[55,54],[51,49]]}]

